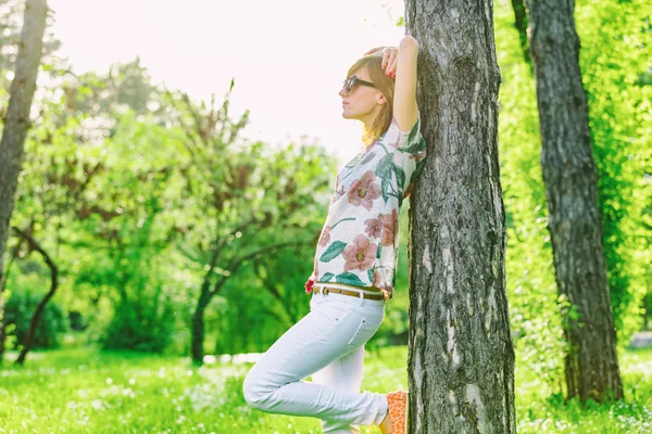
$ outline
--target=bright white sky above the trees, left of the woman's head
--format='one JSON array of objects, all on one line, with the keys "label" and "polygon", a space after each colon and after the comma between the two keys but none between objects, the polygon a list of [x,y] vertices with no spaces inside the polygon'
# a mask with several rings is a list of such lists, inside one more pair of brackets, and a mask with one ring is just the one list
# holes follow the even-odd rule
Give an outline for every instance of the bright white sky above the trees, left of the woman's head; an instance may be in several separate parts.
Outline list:
[{"label": "bright white sky above the trees, left of the woman's head", "polygon": [[398,46],[401,0],[50,0],[73,71],[106,72],[140,55],[155,84],[251,111],[243,136],[274,145],[319,139],[346,163],[362,124],[341,117],[338,91],[367,50]]}]

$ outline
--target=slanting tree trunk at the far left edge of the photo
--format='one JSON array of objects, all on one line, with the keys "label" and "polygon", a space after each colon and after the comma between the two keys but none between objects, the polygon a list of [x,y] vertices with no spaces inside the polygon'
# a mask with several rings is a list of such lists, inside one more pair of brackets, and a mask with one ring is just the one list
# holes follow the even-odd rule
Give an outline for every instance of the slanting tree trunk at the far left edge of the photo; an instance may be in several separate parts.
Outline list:
[{"label": "slanting tree trunk at the far left edge of the photo", "polygon": [[[29,128],[29,110],[36,88],[36,76],[41,58],[48,5],[46,0],[27,0],[16,69],[11,84],[9,106],[2,139],[0,140],[0,289],[4,288],[4,252],[9,238],[9,222],[13,212],[18,173],[23,159],[25,137]],[[4,302],[0,293],[0,318],[4,317]],[[4,341],[0,342],[0,361]]]}]

